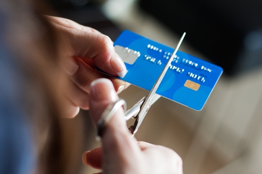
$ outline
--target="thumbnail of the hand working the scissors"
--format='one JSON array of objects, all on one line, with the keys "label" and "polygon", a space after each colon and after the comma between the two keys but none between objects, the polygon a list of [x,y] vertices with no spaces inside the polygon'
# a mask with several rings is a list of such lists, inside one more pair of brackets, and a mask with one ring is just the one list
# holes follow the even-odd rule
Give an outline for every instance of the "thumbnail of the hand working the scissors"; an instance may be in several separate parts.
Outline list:
[{"label": "thumbnail of the hand working the scissors", "polygon": [[117,94],[112,82],[106,78],[100,78],[91,82],[90,97],[96,101],[117,100]]}]

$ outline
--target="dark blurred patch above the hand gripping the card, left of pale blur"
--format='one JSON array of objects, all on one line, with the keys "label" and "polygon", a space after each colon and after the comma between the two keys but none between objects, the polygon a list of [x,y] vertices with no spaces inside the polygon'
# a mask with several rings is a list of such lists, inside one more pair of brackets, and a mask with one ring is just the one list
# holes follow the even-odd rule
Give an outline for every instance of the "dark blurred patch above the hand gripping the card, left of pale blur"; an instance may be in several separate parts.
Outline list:
[{"label": "dark blurred patch above the hand gripping the card, left of pale blur", "polygon": [[99,0],[47,0],[58,16],[76,21],[108,35],[113,41],[121,31],[102,12]]}]

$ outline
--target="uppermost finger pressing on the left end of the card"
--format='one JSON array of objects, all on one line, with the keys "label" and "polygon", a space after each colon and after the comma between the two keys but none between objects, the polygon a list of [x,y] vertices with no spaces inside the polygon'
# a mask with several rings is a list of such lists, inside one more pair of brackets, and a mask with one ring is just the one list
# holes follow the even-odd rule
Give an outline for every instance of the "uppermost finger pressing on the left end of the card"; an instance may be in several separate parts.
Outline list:
[{"label": "uppermost finger pressing on the left end of the card", "polygon": [[71,46],[71,49],[64,50],[69,57],[92,59],[99,69],[113,76],[123,77],[126,74],[125,64],[115,52],[108,36],[69,19],[47,17],[60,29],[60,34]]}]

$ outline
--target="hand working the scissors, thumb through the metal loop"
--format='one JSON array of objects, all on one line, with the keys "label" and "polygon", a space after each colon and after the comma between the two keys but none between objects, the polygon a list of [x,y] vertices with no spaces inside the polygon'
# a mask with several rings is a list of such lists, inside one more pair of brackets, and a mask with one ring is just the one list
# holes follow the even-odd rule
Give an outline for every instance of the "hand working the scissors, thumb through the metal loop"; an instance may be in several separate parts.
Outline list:
[{"label": "hand working the scissors, thumb through the metal loop", "polygon": [[[97,124],[105,107],[118,99],[112,83],[98,79],[91,83],[90,114]],[[182,160],[172,149],[137,142],[132,138],[119,108],[102,136],[102,147],[83,154],[83,163],[103,173],[182,173]]]}]

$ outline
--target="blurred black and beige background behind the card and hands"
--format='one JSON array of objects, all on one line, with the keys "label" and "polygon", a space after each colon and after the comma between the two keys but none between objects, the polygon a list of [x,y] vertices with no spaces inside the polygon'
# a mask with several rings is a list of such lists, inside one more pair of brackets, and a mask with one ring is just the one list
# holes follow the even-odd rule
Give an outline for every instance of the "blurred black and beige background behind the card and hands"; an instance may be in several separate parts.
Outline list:
[{"label": "blurred black and beige background behind the card and hands", "polygon": [[[259,0],[60,0],[58,15],[93,27],[114,41],[131,30],[213,62],[224,69],[202,111],[165,98],[149,110],[136,138],[174,149],[188,173],[262,171],[262,2]],[[130,86],[120,94],[128,108],[148,92]],[[88,111],[74,119],[85,125]],[[72,120],[69,124],[72,124]],[[88,137],[74,130],[71,134]],[[91,134],[91,133],[90,133]],[[95,134],[85,142],[95,140]],[[94,142],[88,150],[99,146]],[[79,150],[81,151],[81,150]],[[80,157],[81,158],[81,157]],[[98,172],[80,166],[81,173]]]}]

